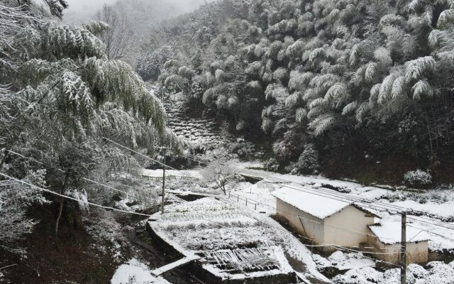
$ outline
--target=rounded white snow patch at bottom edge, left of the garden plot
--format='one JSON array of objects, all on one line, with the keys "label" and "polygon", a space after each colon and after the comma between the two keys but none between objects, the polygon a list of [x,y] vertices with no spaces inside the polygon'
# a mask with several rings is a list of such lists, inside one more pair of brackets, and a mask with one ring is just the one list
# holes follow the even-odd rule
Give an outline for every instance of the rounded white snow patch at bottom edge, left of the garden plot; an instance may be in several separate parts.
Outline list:
[{"label": "rounded white snow patch at bottom edge, left of the garden plot", "polygon": [[170,284],[162,277],[155,277],[145,263],[133,258],[119,266],[111,284]]}]

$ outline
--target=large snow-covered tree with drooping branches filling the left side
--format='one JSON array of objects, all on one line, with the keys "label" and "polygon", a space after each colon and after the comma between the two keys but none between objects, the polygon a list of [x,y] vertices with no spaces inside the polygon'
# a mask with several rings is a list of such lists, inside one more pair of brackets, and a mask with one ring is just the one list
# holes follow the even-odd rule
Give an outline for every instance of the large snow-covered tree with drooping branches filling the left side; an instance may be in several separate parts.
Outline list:
[{"label": "large snow-covered tree with drooping branches filling the left side", "polygon": [[[160,100],[129,65],[107,60],[106,45],[92,33],[104,26],[50,21],[48,15],[61,16],[65,1],[45,1],[44,6],[34,2],[18,6],[14,1],[0,5],[0,25],[6,27],[0,32],[6,39],[0,43],[1,82],[6,82],[0,90],[1,173],[23,182],[31,173],[40,173],[40,180],[28,183],[86,199],[80,187],[95,166],[103,165],[98,173],[111,173],[138,165],[129,153],[113,155],[114,146],[104,137],[131,148],[180,147],[166,129]],[[31,190],[20,182],[0,181],[1,215],[11,213],[0,220],[0,226],[23,225],[16,229],[21,237],[34,224],[24,219],[29,203],[23,195]],[[31,200],[43,202],[38,200],[38,188],[31,188]],[[22,199],[18,206],[17,200]],[[65,200],[50,201],[59,202],[57,232]],[[0,239],[0,245],[9,246],[4,241]]]}]

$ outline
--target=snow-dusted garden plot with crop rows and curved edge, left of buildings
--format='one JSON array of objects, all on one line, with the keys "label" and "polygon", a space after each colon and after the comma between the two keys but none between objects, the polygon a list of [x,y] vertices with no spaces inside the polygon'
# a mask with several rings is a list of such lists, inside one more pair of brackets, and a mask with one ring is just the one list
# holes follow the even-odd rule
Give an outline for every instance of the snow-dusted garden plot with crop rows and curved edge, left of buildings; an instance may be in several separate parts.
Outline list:
[{"label": "snow-dusted garden plot with crop rows and curved edge, left of buildings", "polygon": [[148,222],[155,234],[221,279],[292,275],[272,226],[234,204],[205,197],[169,206]]}]

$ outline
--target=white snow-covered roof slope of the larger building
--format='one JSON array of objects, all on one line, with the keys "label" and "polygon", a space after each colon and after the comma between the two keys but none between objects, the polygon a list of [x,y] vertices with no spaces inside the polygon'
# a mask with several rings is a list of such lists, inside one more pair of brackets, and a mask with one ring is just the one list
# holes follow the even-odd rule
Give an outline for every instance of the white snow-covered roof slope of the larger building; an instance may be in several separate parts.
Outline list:
[{"label": "white snow-covered roof slope of the larger building", "polygon": [[352,204],[351,202],[334,200],[330,197],[323,197],[310,192],[294,190],[289,187],[282,187],[279,190],[272,192],[272,195],[319,219],[330,217]]}]

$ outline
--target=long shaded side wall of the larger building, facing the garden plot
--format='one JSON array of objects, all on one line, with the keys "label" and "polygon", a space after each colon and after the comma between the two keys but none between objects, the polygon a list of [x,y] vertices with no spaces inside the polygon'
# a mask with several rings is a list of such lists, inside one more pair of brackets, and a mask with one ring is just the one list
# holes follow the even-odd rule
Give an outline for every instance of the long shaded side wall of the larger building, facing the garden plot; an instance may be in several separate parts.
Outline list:
[{"label": "long shaded side wall of the larger building, facing the garden plot", "polygon": [[[276,200],[278,217],[287,219],[301,236],[306,236],[314,240],[316,244],[323,244],[323,220],[307,214],[306,212],[302,212],[297,209],[297,207],[283,202],[278,198]],[[301,216],[301,218],[299,218],[298,215]]]}]

